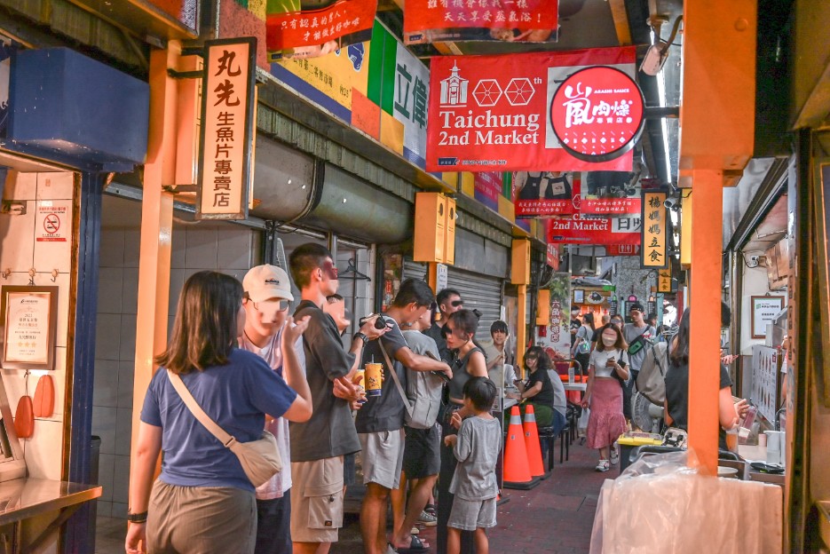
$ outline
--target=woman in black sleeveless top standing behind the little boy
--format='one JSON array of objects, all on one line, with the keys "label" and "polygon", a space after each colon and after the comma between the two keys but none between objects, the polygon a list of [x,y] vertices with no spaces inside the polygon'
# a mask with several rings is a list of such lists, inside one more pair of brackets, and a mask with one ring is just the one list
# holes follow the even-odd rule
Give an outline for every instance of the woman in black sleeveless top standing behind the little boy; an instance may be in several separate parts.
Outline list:
[{"label": "woman in black sleeveless top standing behind the little boy", "polygon": [[[447,328],[447,347],[453,352],[453,378],[447,384],[449,405],[444,414],[439,415],[442,439],[450,430],[450,418],[455,411],[460,411],[462,417],[471,415],[464,406],[464,384],[471,377],[486,377],[487,365],[484,352],[473,343],[478,328],[478,316],[471,310],[459,310],[451,313],[445,324]],[[443,443],[442,443],[443,444]],[[438,481],[438,553],[447,552],[447,520],[453,507],[453,497],[449,492],[450,481],[455,472],[455,456],[452,449],[441,447],[441,471]],[[471,552],[473,547],[472,534],[462,534],[462,551]]]}]

